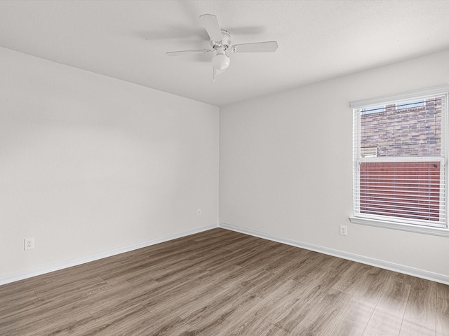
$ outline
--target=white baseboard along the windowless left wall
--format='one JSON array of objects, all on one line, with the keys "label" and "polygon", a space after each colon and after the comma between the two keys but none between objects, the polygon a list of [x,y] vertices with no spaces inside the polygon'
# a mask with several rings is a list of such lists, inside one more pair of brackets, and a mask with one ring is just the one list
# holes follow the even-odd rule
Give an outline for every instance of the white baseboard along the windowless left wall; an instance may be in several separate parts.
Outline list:
[{"label": "white baseboard along the windowless left wall", "polygon": [[32,276],[38,276],[38,275],[42,275],[42,274],[46,274],[46,273],[50,273],[50,272],[55,272],[55,271],[59,271],[60,269],[65,269],[68,267],[73,267],[73,266],[77,266],[77,265],[81,265],[84,264],[86,262],[91,262],[91,261],[95,261],[95,260],[99,260],[102,258],[107,258],[107,257],[111,257],[112,255],[117,255],[120,253],[125,253],[125,252],[129,252],[129,251],[133,251],[133,250],[137,250],[138,248],[142,248],[142,247],[147,247],[147,246],[152,246],[154,244],[159,244],[159,243],[163,243],[164,241],[168,241],[168,240],[172,240],[172,239],[177,239],[180,237],[185,237],[185,236],[189,236],[189,235],[193,235],[195,233],[198,232],[203,232],[206,230],[210,230],[213,228],[217,228],[218,225],[207,225],[207,226],[203,226],[200,228],[194,228],[192,230],[187,230],[187,231],[183,231],[183,232],[177,232],[173,235],[168,235],[165,237],[161,237],[161,238],[157,238],[157,239],[153,239],[153,240],[149,240],[149,241],[142,241],[140,243],[137,244],[133,244],[130,246],[123,246],[123,247],[119,247],[119,248],[113,248],[112,250],[108,250],[108,251],[102,251],[100,253],[94,253],[91,255],[84,255],[83,257],[80,258],[75,258],[75,259],[71,259],[71,260],[65,260],[62,262],[56,262],[54,264],[51,265],[46,265],[43,267],[39,267],[36,269],[32,269],[32,270],[27,270],[24,272],[19,272],[16,274],[10,274],[7,276],[0,276],[0,286],[4,285],[6,283],[11,283],[14,281],[19,281],[19,280],[23,280],[23,279],[27,279],[27,278],[31,278]]}]

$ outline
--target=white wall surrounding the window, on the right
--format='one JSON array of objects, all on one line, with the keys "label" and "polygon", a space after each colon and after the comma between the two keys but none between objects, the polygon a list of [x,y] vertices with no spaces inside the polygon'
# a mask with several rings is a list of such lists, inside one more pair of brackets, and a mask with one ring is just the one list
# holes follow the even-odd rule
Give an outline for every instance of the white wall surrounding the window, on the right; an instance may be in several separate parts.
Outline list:
[{"label": "white wall surrounding the window, on the right", "polygon": [[449,276],[449,238],[348,219],[349,102],[448,84],[448,59],[449,50],[220,109],[220,222]]}]

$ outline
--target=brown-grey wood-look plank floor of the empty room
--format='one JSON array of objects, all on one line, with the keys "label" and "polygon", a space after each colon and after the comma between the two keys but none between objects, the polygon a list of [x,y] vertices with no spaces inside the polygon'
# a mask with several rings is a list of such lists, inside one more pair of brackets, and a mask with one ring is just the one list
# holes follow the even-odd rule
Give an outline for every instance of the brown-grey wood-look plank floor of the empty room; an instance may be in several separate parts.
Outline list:
[{"label": "brown-grey wood-look plank floor of the empty room", "polygon": [[448,336],[449,286],[217,228],[0,286],[0,335]]}]

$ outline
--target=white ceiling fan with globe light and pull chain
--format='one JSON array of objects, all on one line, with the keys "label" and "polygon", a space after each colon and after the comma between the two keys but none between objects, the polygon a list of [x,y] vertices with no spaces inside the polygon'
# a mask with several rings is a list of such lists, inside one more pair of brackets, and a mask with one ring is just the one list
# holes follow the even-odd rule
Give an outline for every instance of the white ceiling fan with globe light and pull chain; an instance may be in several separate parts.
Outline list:
[{"label": "white ceiling fan with globe light and pull chain", "polygon": [[229,66],[230,59],[226,55],[227,50],[232,50],[233,52],[274,52],[278,48],[278,43],[276,41],[231,45],[231,33],[227,30],[220,29],[220,25],[218,25],[218,20],[215,15],[204,14],[199,18],[201,25],[206,29],[209,35],[209,43],[212,49],[169,51],[166,52],[166,55],[182,56],[214,52],[215,56],[212,59],[214,82],[215,74],[222,73]]}]

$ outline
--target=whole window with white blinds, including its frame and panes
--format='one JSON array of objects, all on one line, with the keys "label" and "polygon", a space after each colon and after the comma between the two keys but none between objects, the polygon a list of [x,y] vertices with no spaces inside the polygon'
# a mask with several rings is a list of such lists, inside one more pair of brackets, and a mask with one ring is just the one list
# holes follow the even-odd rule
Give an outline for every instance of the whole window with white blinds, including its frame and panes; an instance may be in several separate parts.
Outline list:
[{"label": "whole window with white blinds, including its frame and panes", "polygon": [[449,235],[448,127],[444,126],[448,122],[448,91],[449,86],[444,86],[351,103],[354,111],[351,221]]}]

